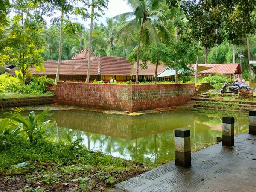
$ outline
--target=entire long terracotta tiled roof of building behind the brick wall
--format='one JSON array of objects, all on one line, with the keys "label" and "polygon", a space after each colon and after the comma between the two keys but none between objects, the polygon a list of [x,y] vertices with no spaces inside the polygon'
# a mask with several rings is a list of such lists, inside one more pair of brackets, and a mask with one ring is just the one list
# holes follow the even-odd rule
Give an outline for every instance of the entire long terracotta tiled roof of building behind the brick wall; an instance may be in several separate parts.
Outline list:
[{"label": "entire long terracotta tiled roof of building behind the brick wall", "polygon": [[[55,75],[57,71],[58,61],[48,60],[44,62],[45,72],[38,72],[32,66],[30,71],[34,75]],[[88,59],[74,59],[61,61],[61,75],[86,75],[88,68]],[[133,69],[133,71],[132,71]],[[158,65],[158,73],[163,71],[165,67]],[[132,71],[132,73],[131,73]],[[123,57],[97,56],[91,61],[90,75],[136,75],[134,67]],[[155,75],[155,65],[148,63],[147,69],[139,69],[139,75]]]}]

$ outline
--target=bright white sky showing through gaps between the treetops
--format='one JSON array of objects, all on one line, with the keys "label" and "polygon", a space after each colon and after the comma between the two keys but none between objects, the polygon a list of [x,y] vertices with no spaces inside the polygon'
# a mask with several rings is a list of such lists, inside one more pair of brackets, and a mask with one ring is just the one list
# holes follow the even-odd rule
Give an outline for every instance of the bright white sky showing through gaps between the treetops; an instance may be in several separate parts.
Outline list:
[{"label": "bright white sky showing through gaps between the treetops", "polygon": [[[125,0],[110,0],[108,3],[108,9],[105,10],[105,15],[102,15],[102,18],[98,18],[98,21],[94,21],[97,23],[104,23],[106,21],[106,18],[111,18],[116,15],[126,13],[126,12],[132,12],[132,9],[127,4]],[[57,14],[60,16],[61,12],[57,12]],[[47,26],[50,26],[50,17],[44,17],[44,19],[47,22]],[[77,21],[79,23],[84,24],[84,26],[88,29],[90,29],[90,18],[88,18],[86,21],[82,20],[81,18],[75,18],[73,17],[73,21]]]}]

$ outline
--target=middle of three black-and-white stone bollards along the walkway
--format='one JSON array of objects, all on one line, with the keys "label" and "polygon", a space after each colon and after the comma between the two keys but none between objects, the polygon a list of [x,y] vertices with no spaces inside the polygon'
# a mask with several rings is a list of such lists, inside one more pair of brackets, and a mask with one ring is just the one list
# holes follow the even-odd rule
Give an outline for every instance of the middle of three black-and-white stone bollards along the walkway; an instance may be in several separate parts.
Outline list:
[{"label": "middle of three black-and-white stone bollards along the walkway", "polygon": [[234,146],[234,117],[222,117],[222,145]]}]

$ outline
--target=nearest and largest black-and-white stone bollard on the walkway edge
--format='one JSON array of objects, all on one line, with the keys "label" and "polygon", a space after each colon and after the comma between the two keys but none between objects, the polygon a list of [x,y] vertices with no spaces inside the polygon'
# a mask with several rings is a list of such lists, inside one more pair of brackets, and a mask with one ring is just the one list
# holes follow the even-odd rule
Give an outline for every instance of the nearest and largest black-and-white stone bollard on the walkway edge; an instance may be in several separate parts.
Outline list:
[{"label": "nearest and largest black-and-white stone bollard on the walkway edge", "polygon": [[175,165],[181,167],[191,166],[190,130],[174,130]]}]

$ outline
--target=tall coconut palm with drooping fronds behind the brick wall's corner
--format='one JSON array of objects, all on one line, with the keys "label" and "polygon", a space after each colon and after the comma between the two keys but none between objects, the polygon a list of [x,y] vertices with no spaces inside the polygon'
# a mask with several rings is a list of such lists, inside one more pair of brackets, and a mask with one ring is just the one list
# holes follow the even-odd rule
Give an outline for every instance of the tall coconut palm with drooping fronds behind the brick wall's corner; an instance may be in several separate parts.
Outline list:
[{"label": "tall coconut palm with drooping fronds behind the brick wall's corner", "polygon": [[117,38],[122,35],[125,42],[127,42],[132,39],[133,35],[137,34],[137,31],[139,30],[135,84],[138,84],[139,78],[139,52],[143,32],[146,34],[146,38],[151,43],[159,42],[157,30],[155,29],[152,21],[156,20],[157,18],[165,18],[159,6],[160,2],[160,0],[128,0],[128,4],[131,6],[131,8],[133,8],[133,12],[124,13],[117,16],[122,17],[125,15],[132,18],[122,29],[119,30]]}]

